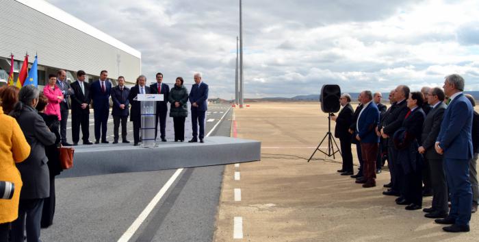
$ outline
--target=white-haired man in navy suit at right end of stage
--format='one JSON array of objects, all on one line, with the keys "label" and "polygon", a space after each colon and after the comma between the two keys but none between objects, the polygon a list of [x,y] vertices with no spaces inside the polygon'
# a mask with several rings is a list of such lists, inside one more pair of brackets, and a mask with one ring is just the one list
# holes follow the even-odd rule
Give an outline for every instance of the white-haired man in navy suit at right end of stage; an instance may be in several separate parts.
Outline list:
[{"label": "white-haired man in navy suit at right end of stage", "polygon": [[200,126],[200,143],[205,137],[205,113],[208,110],[208,85],[201,82],[201,73],[194,74],[194,83],[190,90],[190,103],[192,104],[193,138],[190,143],[198,142],[198,124]]}]

